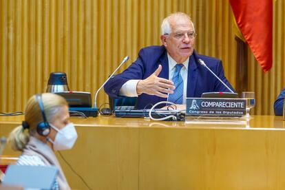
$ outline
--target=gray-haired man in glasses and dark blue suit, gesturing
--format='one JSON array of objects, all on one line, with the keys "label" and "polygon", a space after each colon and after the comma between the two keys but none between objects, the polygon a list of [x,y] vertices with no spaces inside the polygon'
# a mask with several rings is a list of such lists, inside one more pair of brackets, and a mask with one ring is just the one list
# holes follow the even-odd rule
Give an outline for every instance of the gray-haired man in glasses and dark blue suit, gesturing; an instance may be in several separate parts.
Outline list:
[{"label": "gray-haired man in glasses and dark blue suit, gesturing", "polygon": [[187,14],[169,15],[161,28],[162,45],[140,50],[138,59],[127,70],[106,83],[104,88],[109,96],[138,96],[136,108],[143,109],[160,101],[184,105],[187,97],[200,97],[203,92],[229,92],[198,63],[198,59],[202,59],[231,87],[224,76],[222,61],[199,55],[194,50],[196,32]]}]

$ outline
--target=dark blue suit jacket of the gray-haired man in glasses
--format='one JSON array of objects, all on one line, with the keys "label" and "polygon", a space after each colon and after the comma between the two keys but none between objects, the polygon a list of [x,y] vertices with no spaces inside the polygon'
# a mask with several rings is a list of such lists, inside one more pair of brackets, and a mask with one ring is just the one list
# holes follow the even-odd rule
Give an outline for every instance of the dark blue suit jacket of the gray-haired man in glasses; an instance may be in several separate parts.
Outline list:
[{"label": "dark blue suit jacket of the gray-haired man in glasses", "polygon": [[[190,56],[187,76],[187,97],[200,97],[203,92],[229,92],[211,72],[198,63],[202,59],[204,63],[217,74],[231,89],[229,81],[224,76],[222,61],[209,56],[198,55],[195,51]],[[138,59],[132,63],[124,72],[111,78],[104,86],[105,92],[112,98],[122,98],[118,96],[120,88],[130,79],[145,79],[149,77],[162,65],[162,71],[158,75],[161,78],[169,79],[169,65],[167,50],[165,46],[145,47],[138,53]],[[136,108],[143,109],[146,105],[167,101],[167,98],[141,94],[138,96]]]}]

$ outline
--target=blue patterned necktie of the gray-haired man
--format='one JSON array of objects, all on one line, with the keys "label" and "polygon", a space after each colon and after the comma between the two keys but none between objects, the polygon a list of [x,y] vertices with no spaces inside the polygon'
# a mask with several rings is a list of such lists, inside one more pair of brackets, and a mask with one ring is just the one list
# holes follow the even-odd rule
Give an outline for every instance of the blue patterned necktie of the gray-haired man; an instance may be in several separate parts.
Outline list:
[{"label": "blue patterned necktie of the gray-haired man", "polygon": [[182,104],[183,98],[183,78],[180,74],[180,70],[182,69],[183,64],[176,64],[176,69],[173,74],[172,81],[176,89],[174,89],[173,94],[169,94],[168,101],[171,103]]}]

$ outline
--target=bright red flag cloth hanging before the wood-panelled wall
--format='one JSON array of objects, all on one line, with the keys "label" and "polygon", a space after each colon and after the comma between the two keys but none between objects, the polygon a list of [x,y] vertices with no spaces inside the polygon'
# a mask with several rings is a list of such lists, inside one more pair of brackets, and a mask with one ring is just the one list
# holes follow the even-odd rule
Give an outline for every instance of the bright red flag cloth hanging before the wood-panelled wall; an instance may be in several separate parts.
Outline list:
[{"label": "bright red flag cloth hanging before the wood-panelled wall", "polygon": [[246,43],[264,70],[273,62],[273,1],[229,0]]}]

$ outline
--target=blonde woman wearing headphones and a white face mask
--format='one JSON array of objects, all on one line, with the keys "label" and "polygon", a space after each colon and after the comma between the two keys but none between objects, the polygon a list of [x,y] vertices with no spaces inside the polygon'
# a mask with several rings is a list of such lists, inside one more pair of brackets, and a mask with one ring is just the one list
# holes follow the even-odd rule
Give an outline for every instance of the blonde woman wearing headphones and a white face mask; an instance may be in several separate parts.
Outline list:
[{"label": "blonde woman wearing headphones and a white face mask", "polygon": [[70,189],[54,151],[71,149],[77,138],[65,99],[56,94],[36,94],[25,107],[25,120],[10,134],[12,149],[22,151],[18,165],[55,166],[53,189]]}]

